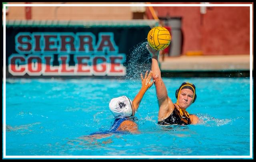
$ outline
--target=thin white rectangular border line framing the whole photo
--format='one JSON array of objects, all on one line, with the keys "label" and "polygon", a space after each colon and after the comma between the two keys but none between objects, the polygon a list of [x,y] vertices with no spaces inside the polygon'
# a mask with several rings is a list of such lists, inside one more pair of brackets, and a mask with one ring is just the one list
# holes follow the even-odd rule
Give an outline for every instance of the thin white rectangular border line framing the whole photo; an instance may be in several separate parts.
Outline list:
[{"label": "thin white rectangular border line framing the whole photo", "polygon": [[[252,4],[3,4],[3,158],[252,158]],[[6,6],[247,6],[250,7],[250,156],[6,156]]]}]

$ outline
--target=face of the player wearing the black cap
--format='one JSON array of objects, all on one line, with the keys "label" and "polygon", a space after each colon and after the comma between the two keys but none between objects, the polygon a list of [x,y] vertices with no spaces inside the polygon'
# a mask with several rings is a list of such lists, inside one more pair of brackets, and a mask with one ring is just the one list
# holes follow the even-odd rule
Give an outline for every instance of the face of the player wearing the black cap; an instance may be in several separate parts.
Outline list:
[{"label": "face of the player wearing the black cap", "polygon": [[182,89],[180,91],[180,95],[178,96],[178,102],[180,108],[186,109],[190,106],[193,102],[194,93],[190,89]]}]

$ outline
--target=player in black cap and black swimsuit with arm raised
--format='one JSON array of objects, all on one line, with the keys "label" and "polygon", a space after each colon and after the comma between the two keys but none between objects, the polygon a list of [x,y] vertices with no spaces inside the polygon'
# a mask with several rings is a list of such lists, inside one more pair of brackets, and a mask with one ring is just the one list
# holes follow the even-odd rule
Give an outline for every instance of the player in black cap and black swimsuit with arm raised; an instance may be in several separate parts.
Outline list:
[{"label": "player in black cap and black swimsuit with arm raised", "polygon": [[186,111],[186,109],[196,100],[196,87],[194,84],[188,82],[182,83],[180,88],[176,90],[177,102],[174,104],[168,97],[166,86],[161,78],[161,72],[158,65],[159,50],[154,50],[148,45],[146,46],[152,55],[151,70],[154,72],[153,79],[155,80],[154,84],[159,105],[158,124],[197,124],[199,120],[198,117],[189,114]]}]

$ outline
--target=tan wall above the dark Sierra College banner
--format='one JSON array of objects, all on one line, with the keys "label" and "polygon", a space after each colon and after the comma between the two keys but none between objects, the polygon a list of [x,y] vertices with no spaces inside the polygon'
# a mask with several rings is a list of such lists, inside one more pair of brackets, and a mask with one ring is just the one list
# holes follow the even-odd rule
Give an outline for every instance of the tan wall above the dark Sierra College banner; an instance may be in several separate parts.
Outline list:
[{"label": "tan wall above the dark Sierra College banner", "polygon": [[[24,4],[24,2],[9,4]],[[39,3],[32,4],[63,4]],[[104,3],[64,3],[64,4],[104,4]],[[117,3],[105,3],[117,4]],[[118,3],[127,4],[127,3]],[[131,7],[31,7],[32,20],[131,20]],[[9,7],[6,20],[26,20],[25,7]]]}]

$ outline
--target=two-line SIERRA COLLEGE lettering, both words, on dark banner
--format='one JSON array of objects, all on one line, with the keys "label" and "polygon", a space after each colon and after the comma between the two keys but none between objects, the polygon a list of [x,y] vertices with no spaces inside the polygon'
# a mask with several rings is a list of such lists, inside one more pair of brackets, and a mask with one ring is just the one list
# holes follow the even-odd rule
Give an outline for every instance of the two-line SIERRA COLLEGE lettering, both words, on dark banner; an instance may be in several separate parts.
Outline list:
[{"label": "two-line SIERRA COLLEGE lettering, both words, on dark banner", "polygon": [[[118,54],[112,32],[19,32],[8,58],[13,76],[124,76],[126,54]],[[58,65],[54,65],[58,54]],[[69,65],[70,54],[74,64]]]}]

